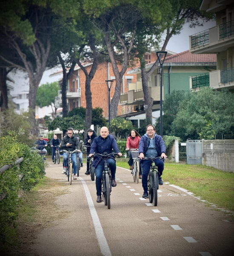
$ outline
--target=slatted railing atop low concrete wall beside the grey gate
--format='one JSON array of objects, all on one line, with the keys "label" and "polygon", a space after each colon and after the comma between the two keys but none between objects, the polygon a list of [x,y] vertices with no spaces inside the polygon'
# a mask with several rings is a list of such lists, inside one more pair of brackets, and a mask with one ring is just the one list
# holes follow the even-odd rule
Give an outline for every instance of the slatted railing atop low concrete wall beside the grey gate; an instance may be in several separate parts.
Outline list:
[{"label": "slatted railing atop low concrete wall beside the grey gate", "polygon": [[203,140],[203,152],[234,153],[234,140]]}]

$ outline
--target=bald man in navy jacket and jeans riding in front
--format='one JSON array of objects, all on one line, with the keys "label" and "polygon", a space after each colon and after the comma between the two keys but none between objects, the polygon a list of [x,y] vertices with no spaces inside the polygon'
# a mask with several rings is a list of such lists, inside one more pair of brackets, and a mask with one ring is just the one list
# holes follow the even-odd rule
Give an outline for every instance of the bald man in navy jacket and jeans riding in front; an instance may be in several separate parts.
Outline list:
[{"label": "bald man in navy jacket and jeans riding in front", "polygon": [[[96,154],[103,154],[107,153],[110,154],[112,151],[112,148],[114,151],[121,157],[122,154],[120,153],[120,150],[117,146],[117,142],[114,139],[112,135],[109,134],[108,128],[103,126],[100,131],[100,136],[94,138],[94,141],[91,145],[90,154],[88,155],[91,157],[94,152]],[[114,155],[110,156],[107,160],[108,165],[111,170],[111,186],[115,187],[117,186],[117,183],[115,181],[115,172],[116,172],[116,163]],[[97,203],[102,202],[101,197],[101,191],[102,191],[102,177],[103,177],[103,169],[104,169],[104,160],[100,159],[99,157],[96,157],[93,161],[93,166],[95,167],[95,173],[96,173],[96,189],[97,189]]]}]

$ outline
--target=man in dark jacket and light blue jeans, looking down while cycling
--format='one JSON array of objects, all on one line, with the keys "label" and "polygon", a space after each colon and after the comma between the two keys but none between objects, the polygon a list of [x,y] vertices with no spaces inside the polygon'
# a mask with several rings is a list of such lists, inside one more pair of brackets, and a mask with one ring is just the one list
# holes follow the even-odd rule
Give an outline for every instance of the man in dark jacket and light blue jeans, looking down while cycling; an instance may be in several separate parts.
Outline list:
[{"label": "man in dark jacket and light blue jeans, looking down while cycling", "polygon": [[[77,140],[77,137],[73,135],[72,128],[68,128],[67,135],[63,137],[61,142],[61,148],[65,149],[66,151],[74,151],[76,148],[80,150],[80,143]],[[67,160],[68,154],[63,153],[63,172],[62,174],[66,173],[67,171]],[[77,156],[76,154],[71,154],[71,160],[73,162],[73,173],[74,173],[74,180],[77,180]]]}]

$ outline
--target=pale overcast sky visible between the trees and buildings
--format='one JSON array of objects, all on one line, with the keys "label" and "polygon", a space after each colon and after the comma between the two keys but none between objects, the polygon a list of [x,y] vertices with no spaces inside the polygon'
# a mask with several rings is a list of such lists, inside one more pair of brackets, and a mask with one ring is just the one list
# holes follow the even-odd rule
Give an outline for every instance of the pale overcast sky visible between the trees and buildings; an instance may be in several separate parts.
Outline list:
[{"label": "pale overcast sky visible between the trees and buildings", "polygon": [[[189,37],[188,37],[189,35],[196,34],[203,30],[212,28],[214,26],[216,26],[215,21],[209,21],[207,23],[204,23],[203,26],[199,26],[194,29],[189,28],[188,24],[185,24],[181,33],[179,35],[174,35],[170,39],[166,49],[176,53],[184,52],[189,49]],[[43,74],[40,84],[45,84],[46,82],[50,83],[53,81],[58,81],[62,77],[62,75],[49,77],[50,74],[58,70],[61,70],[61,67],[53,68],[51,70],[46,70]],[[11,94],[17,94],[21,91],[29,90],[29,79],[27,78],[27,75],[25,73],[19,72],[19,71],[17,71],[17,73],[11,72],[9,76],[15,81],[15,84],[13,84],[14,91],[12,91]]]}]

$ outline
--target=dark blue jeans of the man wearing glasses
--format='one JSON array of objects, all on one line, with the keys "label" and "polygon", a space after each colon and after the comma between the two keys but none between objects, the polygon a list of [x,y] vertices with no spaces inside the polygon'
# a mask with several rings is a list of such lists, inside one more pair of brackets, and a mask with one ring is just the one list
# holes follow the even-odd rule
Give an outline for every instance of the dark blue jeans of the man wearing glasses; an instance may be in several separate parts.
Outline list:
[{"label": "dark blue jeans of the man wearing glasses", "polygon": [[[148,192],[148,173],[151,166],[151,160],[143,160],[141,167],[142,167],[142,186],[144,189],[144,192]],[[158,168],[159,175],[163,175],[163,169],[164,169],[164,162],[161,159],[155,159],[154,163],[156,164]]]}]

